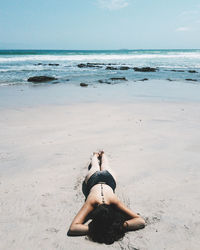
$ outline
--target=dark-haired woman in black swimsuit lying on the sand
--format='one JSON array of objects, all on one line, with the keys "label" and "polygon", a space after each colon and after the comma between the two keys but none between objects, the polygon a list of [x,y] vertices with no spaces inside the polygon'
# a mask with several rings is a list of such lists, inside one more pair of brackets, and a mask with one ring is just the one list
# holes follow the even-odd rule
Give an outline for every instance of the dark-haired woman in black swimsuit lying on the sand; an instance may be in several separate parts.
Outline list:
[{"label": "dark-haired woman in black swimsuit lying on the sand", "polygon": [[83,182],[86,201],[71,223],[69,236],[88,235],[95,242],[112,244],[125,232],[145,227],[145,221],[117,198],[115,188],[105,153],[94,153]]}]

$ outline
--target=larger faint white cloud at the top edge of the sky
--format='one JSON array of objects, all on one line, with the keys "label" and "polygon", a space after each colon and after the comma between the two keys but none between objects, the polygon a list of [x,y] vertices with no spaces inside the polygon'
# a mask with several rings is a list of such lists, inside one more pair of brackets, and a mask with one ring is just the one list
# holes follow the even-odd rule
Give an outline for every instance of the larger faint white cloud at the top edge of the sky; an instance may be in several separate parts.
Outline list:
[{"label": "larger faint white cloud at the top edge of the sky", "polygon": [[97,0],[100,8],[119,10],[129,5],[129,0]]}]

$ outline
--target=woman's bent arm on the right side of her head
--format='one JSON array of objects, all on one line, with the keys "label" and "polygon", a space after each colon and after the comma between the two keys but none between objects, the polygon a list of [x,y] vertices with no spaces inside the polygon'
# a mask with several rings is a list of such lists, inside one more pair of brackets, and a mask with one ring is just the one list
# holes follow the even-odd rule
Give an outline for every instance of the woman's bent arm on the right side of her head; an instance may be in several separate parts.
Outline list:
[{"label": "woman's bent arm on the right side of her head", "polygon": [[115,205],[130,218],[124,222],[124,227],[127,231],[138,230],[145,227],[144,219],[127,208],[120,200],[117,199]]}]

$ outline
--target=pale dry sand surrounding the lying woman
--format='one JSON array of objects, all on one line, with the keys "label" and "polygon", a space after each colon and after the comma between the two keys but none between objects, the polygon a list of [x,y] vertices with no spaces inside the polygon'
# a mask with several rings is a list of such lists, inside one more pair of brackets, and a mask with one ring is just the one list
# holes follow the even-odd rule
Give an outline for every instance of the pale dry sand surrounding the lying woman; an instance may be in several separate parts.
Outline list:
[{"label": "pale dry sand surrounding the lying woman", "polygon": [[[0,249],[198,250],[200,103],[0,110]],[[90,154],[108,153],[117,194],[147,222],[111,246],[67,237]]]}]

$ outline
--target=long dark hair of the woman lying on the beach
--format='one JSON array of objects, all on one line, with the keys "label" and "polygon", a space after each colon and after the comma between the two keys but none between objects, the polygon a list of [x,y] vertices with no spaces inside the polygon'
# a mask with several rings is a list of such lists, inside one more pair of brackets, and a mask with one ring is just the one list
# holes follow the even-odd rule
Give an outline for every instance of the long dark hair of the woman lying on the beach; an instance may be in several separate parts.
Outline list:
[{"label": "long dark hair of the woman lying on the beach", "polygon": [[101,204],[92,213],[88,236],[107,245],[124,237],[125,216],[114,205]]}]

